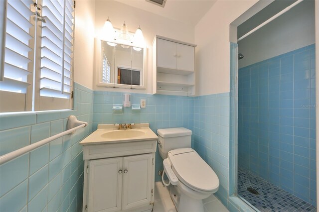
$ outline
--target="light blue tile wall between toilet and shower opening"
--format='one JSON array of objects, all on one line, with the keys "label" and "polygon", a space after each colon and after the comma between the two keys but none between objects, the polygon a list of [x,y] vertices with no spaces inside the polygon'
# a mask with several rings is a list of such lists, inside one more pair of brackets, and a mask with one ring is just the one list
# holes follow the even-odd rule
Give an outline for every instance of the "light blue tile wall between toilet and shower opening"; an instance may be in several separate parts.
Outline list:
[{"label": "light blue tile wall between toilet and shower opening", "polygon": [[229,188],[230,94],[194,98],[194,149],[219,179],[217,197],[227,207]]}]

